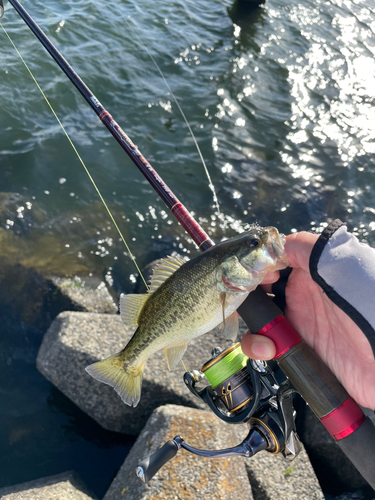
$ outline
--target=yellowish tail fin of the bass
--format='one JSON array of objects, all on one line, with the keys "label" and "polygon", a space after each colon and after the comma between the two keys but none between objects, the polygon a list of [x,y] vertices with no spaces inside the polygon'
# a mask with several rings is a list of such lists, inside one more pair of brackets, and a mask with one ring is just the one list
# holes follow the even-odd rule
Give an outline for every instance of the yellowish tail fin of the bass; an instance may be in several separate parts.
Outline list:
[{"label": "yellowish tail fin of the bass", "polygon": [[136,407],[141,398],[144,365],[129,367],[125,371],[118,353],[104,361],[93,363],[86,371],[96,380],[113,387],[124,403]]}]

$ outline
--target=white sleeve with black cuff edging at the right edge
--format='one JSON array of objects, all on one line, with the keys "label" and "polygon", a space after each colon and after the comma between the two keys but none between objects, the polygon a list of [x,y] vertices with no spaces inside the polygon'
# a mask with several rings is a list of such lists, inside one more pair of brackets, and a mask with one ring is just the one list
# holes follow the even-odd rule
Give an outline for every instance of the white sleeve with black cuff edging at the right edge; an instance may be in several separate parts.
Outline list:
[{"label": "white sleeve with black cuff edging at the right edge", "polygon": [[375,249],[335,220],[310,257],[313,280],[361,328],[375,354]]}]

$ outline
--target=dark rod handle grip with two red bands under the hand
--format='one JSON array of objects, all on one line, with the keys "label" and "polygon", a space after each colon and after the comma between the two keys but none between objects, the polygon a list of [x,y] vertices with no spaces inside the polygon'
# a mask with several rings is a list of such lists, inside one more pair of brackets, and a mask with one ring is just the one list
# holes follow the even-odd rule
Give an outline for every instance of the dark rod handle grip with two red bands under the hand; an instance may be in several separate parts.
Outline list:
[{"label": "dark rod handle grip with two red bands under the hand", "polygon": [[276,361],[338,446],[375,489],[375,427],[282,311],[258,287],[238,309],[253,333],[271,338]]}]

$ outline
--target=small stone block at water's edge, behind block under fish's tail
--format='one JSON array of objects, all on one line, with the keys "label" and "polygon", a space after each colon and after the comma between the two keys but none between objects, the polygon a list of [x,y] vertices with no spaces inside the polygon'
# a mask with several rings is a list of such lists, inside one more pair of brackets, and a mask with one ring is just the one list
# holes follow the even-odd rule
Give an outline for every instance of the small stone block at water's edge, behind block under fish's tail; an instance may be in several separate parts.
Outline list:
[{"label": "small stone block at water's edge, behind block under fish's tail", "polygon": [[78,276],[70,278],[50,278],[62,300],[68,302],[67,309],[96,313],[116,314],[118,307],[111,297],[106,284],[99,278]]}]

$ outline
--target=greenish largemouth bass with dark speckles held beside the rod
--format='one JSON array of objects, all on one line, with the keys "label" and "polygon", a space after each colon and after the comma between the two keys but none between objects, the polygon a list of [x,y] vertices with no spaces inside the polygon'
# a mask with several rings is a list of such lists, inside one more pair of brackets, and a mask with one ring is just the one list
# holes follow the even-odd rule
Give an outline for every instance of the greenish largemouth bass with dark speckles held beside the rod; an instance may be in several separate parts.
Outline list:
[{"label": "greenish largemouth bass with dark speckles held beside the rod", "polygon": [[188,342],[224,323],[234,340],[236,309],[268,271],[287,267],[284,237],[274,227],[254,226],[183,262],[164,259],[155,270],[146,294],[120,299],[125,325],[138,325],[119,353],[94,363],[86,371],[112,386],[124,403],[136,406],[141,396],[147,359],[164,349],[168,368],[174,368]]}]

